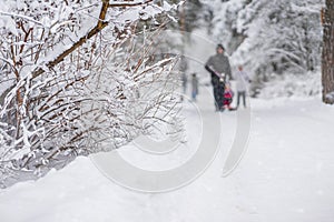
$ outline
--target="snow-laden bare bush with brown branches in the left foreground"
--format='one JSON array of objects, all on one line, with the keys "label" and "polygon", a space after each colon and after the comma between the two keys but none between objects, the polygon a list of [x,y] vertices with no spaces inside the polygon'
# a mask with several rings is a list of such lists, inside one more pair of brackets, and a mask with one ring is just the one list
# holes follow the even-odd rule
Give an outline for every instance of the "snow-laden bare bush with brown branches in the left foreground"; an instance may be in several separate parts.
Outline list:
[{"label": "snow-laden bare bush with brown branches in the left foreground", "polygon": [[6,0],[0,186],[119,148],[151,127],[180,130],[176,58],[151,60],[159,28],[137,28],[140,20],[159,27],[156,17],[175,7],[153,0]]}]

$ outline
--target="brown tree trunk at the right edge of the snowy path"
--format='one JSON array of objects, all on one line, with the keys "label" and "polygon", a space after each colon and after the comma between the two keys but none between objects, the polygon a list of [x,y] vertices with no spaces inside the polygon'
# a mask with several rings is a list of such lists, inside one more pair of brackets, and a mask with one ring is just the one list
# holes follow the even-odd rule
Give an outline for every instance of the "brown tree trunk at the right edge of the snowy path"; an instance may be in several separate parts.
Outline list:
[{"label": "brown tree trunk at the right edge of the snowy path", "polygon": [[334,104],[334,0],[326,0],[322,11],[324,26],[322,54],[323,101]]}]

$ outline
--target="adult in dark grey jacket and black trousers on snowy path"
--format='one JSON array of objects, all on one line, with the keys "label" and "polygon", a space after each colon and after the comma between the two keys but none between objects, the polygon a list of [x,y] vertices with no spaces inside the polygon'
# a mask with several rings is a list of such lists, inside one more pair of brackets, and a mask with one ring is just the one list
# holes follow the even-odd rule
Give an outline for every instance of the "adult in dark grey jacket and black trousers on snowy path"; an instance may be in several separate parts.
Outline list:
[{"label": "adult in dark grey jacket and black trousers on snowy path", "polygon": [[224,111],[225,82],[232,79],[230,64],[224,54],[224,47],[217,46],[217,53],[205,63],[205,69],[212,74],[216,111]]}]

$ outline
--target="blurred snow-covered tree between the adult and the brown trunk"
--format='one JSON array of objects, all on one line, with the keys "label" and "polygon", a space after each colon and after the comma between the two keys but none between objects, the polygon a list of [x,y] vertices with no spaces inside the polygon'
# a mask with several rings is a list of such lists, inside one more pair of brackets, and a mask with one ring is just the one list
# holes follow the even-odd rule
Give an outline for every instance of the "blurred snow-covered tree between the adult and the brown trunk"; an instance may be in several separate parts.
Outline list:
[{"label": "blurred snow-covered tree between the adult and the brown trunk", "polygon": [[[203,0],[204,1],[204,0]],[[232,60],[263,77],[306,73],[321,64],[323,0],[214,0],[212,33]]]}]

